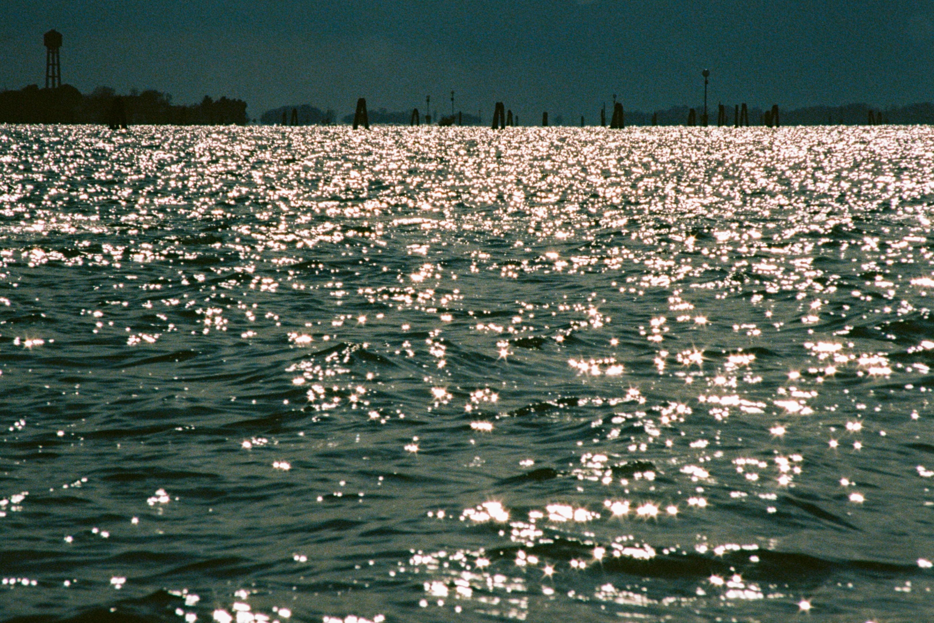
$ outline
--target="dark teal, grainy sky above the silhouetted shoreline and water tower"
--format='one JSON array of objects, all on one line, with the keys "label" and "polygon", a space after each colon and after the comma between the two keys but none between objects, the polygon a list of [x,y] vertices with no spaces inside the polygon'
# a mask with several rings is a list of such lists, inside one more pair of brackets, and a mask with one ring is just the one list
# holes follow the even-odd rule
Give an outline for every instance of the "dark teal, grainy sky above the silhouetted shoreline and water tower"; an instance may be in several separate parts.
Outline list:
[{"label": "dark teal, grainy sky above the silhouetted shoreline and water tower", "polygon": [[0,88],[40,86],[42,34],[65,83],[291,104],[595,119],[713,103],[783,107],[934,100],[934,0],[4,0]]}]

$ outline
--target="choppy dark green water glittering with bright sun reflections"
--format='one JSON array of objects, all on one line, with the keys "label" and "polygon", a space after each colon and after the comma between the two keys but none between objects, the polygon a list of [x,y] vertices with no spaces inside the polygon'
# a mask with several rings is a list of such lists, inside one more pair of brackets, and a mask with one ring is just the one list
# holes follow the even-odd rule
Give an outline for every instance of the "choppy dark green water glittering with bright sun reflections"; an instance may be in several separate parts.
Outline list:
[{"label": "choppy dark green water glittering with bright sun reflections", "polygon": [[932,152],[0,126],[0,619],[923,620]]}]

